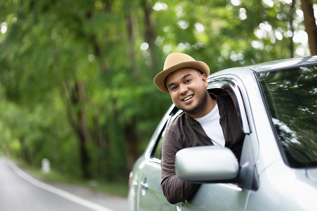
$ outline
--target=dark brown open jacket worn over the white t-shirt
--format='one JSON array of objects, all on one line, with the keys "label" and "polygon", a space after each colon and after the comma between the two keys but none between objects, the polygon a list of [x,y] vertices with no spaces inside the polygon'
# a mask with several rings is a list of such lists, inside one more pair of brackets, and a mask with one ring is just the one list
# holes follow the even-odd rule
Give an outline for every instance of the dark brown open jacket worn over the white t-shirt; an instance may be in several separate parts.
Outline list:
[{"label": "dark brown open jacket worn over the white t-shirt", "polygon": [[[215,96],[220,114],[220,125],[225,138],[225,146],[240,159],[245,134],[241,130],[239,119],[231,97]],[[162,146],[161,188],[166,199],[172,203],[186,200],[200,186],[179,180],[175,173],[175,154],[177,151],[194,146],[213,145],[201,124],[187,113],[181,113],[169,126]]]}]

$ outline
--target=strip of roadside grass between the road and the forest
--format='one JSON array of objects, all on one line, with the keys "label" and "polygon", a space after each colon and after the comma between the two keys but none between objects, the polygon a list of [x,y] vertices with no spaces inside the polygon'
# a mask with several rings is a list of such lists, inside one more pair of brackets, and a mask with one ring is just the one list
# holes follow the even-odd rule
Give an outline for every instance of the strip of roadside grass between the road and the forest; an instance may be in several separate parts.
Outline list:
[{"label": "strip of roadside grass between the road and the forest", "polygon": [[47,181],[47,182],[56,182],[56,183],[65,183],[71,185],[77,185],[86,187],[92,190],[97,190],[109,195],[127,197],[128,196],[128,179],[122,181],[97,181],[97,180],[81,180],[78,178],[73,178],[70,176],[61,175],[57,172],[50,171],[50,173],[43,173],[41,169],[29,166],[23,162],[14,160],[16,164],[21,166],[25,171],[31,174],[36,179]]}]

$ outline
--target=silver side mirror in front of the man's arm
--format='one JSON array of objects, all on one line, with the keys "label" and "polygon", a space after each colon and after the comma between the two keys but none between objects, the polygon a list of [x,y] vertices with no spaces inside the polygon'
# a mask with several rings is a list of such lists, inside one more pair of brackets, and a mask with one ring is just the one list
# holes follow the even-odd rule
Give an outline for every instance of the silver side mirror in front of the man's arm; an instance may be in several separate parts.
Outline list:
[{"label": "silver side mirror in front of the man's arm", "polygon": [[238,176],[239,163],[226,147],[189,147],[176,153],[175,170],[187,182],[225,182]]}]

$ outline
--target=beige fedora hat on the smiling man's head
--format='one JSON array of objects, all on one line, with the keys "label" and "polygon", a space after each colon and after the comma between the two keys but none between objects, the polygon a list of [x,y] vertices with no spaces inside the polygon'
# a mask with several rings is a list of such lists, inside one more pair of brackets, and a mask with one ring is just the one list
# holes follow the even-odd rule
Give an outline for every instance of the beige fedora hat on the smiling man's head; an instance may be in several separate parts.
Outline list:
[{"label": "beige fedora hat on the smiling man's head", "polygon": [[169,93],[167,87],[165,86],[166,77],[181,68],[191,67],[200,70],[202,73],[208,77],[210,69],[205,62],[196,61],[191,56],[183,53],[172,53],[167,56],[163,71],[159,72],[153,79],[154,85],[159,88],[162,92]]}]

